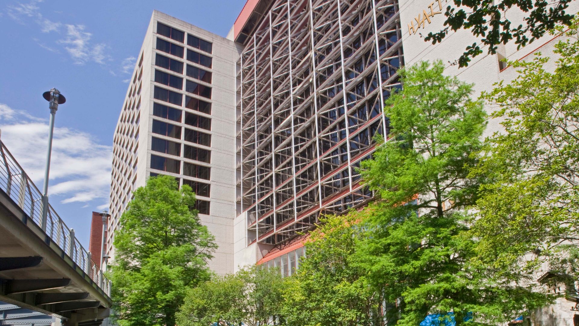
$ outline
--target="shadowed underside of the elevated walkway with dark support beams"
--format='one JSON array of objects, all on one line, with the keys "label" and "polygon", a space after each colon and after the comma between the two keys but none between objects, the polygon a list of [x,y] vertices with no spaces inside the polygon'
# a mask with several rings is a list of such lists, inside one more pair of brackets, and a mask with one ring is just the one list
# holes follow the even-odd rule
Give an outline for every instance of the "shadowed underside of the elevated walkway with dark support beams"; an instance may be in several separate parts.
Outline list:
[{"label": "shadowed underside of the elevated walkway with dark support beams", "polygon": [[44,325],[46,315],[65,325],[100,325],[110,305],[110,298],[2,190],[0,301],[0,325],[14,324],[19,316]]}]

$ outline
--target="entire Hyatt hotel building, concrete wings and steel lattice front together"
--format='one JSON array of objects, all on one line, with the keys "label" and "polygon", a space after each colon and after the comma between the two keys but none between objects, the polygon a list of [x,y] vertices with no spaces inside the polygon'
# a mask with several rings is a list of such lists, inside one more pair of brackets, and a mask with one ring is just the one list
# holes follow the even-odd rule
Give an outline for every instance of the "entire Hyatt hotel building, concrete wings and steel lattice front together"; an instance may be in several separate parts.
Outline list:
[{"label": "entire Hyatt hotel building, concrete wings and steel lattice front together", "polygon": [[[459,68],[464,48],[479,42],[470,31],[423,39],[444,28],[448,5],[248,0],[226,38],[153,12],[114,138],[108,250],[131,191],[166,174],[199,197],[219,244],[212,269],[260,263],[291,274],[301,232],[372,199],[356,167],[372,157],[373,136],[389,132],[383,103],[402,88],[398,69],[440,59],[478,95],[516,77],[501,59],[551,53],[558,41],[511,42],[497,55],[483,48]],[[510,12],[515,25],[519,14]],[[499,128],[490,121],[486,135]]]}]

